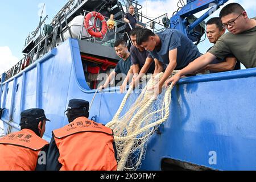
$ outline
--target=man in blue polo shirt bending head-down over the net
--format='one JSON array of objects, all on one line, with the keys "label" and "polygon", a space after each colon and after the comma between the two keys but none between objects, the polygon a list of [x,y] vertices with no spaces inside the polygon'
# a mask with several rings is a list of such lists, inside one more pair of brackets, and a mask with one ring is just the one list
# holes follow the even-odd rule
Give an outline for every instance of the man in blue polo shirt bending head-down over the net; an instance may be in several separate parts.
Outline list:
[{"label": "man in blue polo shirt bending head-down over the net", "polygon": [[174,69],[183,69],[201,55],[199,49],[187,36],[174,29],[154,34],[151,30],[143,28],[137,34],[137,44],[150,51],[156,67],[163,67],[162,63],[168,64],[161,80],[151,88],[156,90],[156,95],[162,92],[164,82],[171,76]]}]

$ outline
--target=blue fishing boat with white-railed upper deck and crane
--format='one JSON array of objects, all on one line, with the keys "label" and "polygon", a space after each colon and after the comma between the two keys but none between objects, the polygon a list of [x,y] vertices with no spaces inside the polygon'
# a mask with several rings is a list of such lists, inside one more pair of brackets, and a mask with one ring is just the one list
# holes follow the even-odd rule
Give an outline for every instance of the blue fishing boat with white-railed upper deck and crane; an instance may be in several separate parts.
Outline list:
[{"label": "blue fishing boat with white-railed upper deck and crane", "polygon": [[[118,85],[97,92],[104,80],[99,75],[118,63],[113,43],[125,35],[122,18],[130,5],[143,26],[154,32],[176,28],[198,44],[205,33],[203,20],[226,2],[187,0],[170,19],[167,14],[149,19],[135,1],[70,0],[50,24],[41,17],[26,38],[26,56],[0,76],[3,135],[20,130],[21,111],[39,107],[53,121],[43,137],[49,141],[52,130],[68,123],[64,111],[72,98],[93,100],[93,121],[111,121],[125,94]],[[208,7],[200,18],[194,16]],[[105,20],[114,15],[115,28],[102,37],[90,36],[84,19],[93,11]],[[102,28],[100,20],[94,24]],[[182,78],[172,89],[170,117],[148,141],[139,169],[255,170],[255,84],[255,68]]]}]

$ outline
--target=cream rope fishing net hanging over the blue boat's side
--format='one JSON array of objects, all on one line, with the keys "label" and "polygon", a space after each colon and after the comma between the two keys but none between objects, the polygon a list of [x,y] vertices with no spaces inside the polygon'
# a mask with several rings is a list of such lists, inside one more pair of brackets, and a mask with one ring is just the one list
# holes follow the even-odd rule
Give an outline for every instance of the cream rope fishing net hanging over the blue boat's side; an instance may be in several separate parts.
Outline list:
[{"label": "cream rope fishing net hanging over the blue boat's side", "polygon": [[141,166],[148,140],[169,117],[172,88],[163,88],[157,99],[154,90],[147,89],[162,76],[163,73],[152,78],[144,76],[139,88],[129,88],[114,118],[106,125],[114,132],[118,170],[137,170]]}]

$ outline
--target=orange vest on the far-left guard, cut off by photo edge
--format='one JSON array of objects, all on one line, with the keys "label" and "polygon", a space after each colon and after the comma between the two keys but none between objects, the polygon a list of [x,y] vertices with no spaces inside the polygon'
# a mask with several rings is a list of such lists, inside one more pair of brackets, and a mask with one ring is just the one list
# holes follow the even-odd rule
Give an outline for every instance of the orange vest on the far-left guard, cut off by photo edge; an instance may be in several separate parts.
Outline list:
[{"label": "orange vest on the far-left guard, cut off by photo edge", "polygon": [[0,171],[34,171],[38,154],[47,144],[28,129],[0,138]]}]

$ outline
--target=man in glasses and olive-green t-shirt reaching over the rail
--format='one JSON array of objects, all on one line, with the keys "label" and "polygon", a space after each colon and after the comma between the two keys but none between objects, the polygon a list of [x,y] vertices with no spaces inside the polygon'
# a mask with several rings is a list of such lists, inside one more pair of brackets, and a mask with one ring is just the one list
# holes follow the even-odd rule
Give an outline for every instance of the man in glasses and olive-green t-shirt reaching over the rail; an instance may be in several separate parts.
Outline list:
[{"label": "man in glasses and olive-green t-shirt reaching over the rail", "polygon": [[170,82],[175,85],[181,76],[194,73],[217,57],[224,59],[229,54],[233,54],[246,68],[256,67],[256,17],[249,19],[240,4],[230,3],[221,10],[220,18],[222,27],[227,28],[229,32],[222,35],[205,55],[197,58],[175,76],[169,78],[166,81],[166,86]]}]

